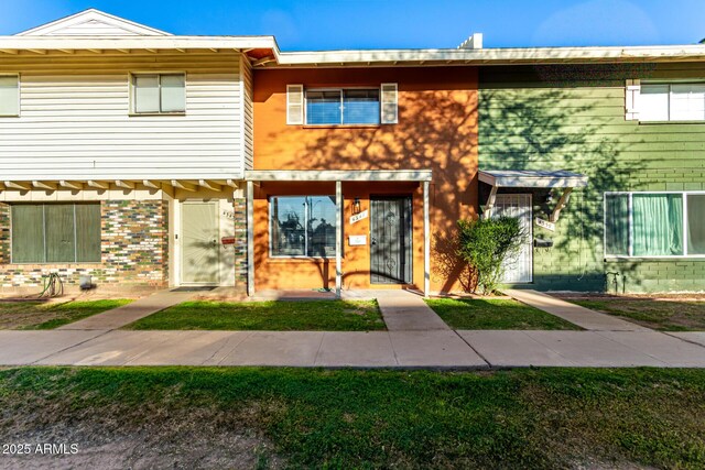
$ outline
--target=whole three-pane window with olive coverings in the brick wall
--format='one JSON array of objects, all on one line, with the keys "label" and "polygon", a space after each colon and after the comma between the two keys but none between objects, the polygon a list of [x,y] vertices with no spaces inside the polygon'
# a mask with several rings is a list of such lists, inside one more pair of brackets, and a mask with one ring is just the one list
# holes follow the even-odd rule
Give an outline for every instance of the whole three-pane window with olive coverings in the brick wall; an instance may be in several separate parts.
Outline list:
[{"label": "whole three-pane window with olive coverings in the brick wall", "polygon": [[12,263],[100,262],[99,204],[17,204],[10,217]]}]

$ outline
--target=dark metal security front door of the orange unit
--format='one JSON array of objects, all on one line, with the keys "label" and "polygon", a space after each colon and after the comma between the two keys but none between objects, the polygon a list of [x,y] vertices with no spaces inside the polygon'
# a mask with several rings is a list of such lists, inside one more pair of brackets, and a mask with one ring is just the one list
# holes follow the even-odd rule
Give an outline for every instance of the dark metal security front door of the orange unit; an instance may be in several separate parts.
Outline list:
[{"label": "dark metal security front door of the orange unit", "polygon": [[370,282],[411,284],[411,197],[372,197],[370,212]]}]

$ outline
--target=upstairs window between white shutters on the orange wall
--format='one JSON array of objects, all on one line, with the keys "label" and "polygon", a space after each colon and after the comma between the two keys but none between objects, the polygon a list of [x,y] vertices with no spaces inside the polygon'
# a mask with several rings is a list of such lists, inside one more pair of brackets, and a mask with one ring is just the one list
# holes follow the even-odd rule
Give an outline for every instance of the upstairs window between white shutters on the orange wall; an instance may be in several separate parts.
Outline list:
[{"label": "upstairs window between white shutters on the orange wall", "polygon": [[306,124],[379,124],[379,89],[306,90]]}]

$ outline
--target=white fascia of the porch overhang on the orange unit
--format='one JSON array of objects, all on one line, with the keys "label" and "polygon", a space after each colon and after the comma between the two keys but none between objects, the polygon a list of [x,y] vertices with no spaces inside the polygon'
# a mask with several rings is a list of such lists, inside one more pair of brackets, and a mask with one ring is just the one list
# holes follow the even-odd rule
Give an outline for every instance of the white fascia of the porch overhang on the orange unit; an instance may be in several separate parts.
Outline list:
[{"label": "white fascia of the porch overhang on the orange unit", "polygon": [[250,170],[248,182],[430,182],[431,170]]}]

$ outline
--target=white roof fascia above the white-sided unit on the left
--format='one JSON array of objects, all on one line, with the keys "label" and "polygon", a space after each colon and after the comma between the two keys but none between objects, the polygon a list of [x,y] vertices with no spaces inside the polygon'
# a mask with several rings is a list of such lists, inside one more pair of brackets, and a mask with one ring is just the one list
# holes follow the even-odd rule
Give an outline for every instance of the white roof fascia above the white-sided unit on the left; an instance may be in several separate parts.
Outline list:
[{"label": "white roof fascia above the white-sided unit on the left", "polygon": [[0,36],[0,50],[184,50],[271,48],[279,56],[273,36]]}]

